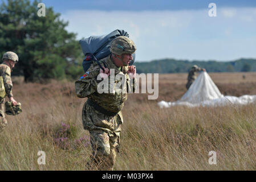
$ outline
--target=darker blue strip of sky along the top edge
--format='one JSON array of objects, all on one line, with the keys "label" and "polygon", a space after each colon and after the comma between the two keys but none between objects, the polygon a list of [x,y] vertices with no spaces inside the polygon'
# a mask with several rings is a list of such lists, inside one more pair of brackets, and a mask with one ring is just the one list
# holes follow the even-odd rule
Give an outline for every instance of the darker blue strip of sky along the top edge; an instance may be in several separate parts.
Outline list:
[{"label": "darker blue strip of sky along the top edge", "polygon": [[205,9],[209,3],[213,2],[220,7],[256,7],[256,1],[242,0],[42,0],[48,6],[53,6],[54,10],[63,13],[70,9],[76,10],[197,10]]}]

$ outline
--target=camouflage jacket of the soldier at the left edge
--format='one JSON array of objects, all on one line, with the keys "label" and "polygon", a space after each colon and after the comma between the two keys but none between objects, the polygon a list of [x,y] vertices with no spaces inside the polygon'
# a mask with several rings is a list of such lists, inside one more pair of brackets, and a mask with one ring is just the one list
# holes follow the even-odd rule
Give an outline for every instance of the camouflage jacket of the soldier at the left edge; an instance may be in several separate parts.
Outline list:
[{"label": "camouflage jacket of the soldier at the left edge", "polygon": [[11,69],[5,63],[0,64],[0,76],[3,77],[3,84],[5,85],[5,92],[7,96],[9,98],[13,97],[13,82],[11,82]]}]

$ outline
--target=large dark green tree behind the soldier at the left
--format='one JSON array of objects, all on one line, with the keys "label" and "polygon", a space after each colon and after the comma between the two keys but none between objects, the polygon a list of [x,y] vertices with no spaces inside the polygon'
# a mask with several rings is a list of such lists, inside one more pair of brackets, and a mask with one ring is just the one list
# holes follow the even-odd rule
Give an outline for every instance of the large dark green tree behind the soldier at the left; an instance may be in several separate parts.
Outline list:
[{"label": "large dark green tree behind the soldier at the left", "polygon": [[38,3],[8,0],[0,5],[0,53],[18,54],[20,61],[13,74],[24,75],[25,81],[75,77],[82,72],[82,66],[75,65],[82,53],[76,34],[65,30],[68,22],[52,7],[46,8],[45,17],[39,17]]}]

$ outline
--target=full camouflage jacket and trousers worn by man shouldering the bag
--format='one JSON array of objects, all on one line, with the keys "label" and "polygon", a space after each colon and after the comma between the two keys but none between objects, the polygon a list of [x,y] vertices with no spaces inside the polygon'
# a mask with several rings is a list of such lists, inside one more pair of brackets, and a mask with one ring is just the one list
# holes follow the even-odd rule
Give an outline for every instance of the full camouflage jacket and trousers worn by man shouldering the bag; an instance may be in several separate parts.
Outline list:
[{"label": "full camouflage jacket and trousers worn by man shouldering the bag", "polygon": [[[128,67],[116,67],[111,56],[101,61],[105,62],[109,70],[115,70],[115,86],[122,80],[117,79],[116,75],[121,75],[127,81],[122,90],[128,92],[129,89],[132,89],[133,92],[135,91],[137,82],[135,78],[132,80],[129,78]],[[98,93],[97,85],[101,82],[101,80],[97,80],[99,73],[100,67],[94,61],[87,73],[75,82],[75,89],[78,97],[88,97],[83,106],[83,127],[90,131],[92,146],[91,161],[87,167],[88,169],[113,170],[116,154],[119,152],[120,126],[123,124],[121,109],[127,100],[127,92]],[[108,85],[110,84],[111,79],[108,77]],[[96,107],[88,104],[89,101],[112,114],[102,113],[95,109]]]}]

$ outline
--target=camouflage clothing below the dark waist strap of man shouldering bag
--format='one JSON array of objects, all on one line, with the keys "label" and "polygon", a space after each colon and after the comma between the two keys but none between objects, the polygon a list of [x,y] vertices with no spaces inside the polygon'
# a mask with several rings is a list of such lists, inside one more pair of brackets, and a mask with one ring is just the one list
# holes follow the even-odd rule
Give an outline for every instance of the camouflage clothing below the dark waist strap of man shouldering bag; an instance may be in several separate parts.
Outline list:
[{"label": "camouflage clothing below the dark waist strap of man shouldering bag", "polygon": [[84,104],[83,126],[90,131],[92,147],[91,160],[87,163],[87,169],[113,170],[116,154],[119,152],[122,123],[121,112],[110,117]]}]

